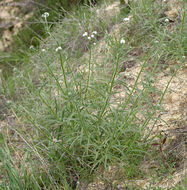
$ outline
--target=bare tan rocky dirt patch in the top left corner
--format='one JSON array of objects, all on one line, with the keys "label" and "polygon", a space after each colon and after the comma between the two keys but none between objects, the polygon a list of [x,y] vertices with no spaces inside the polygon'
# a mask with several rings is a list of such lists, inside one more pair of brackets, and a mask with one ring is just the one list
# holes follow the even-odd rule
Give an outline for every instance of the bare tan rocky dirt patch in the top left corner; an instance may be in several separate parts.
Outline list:
[{"label": "bare tan rocky dirt patch in the top left corner", "polygon": [[12,43],[12,36],[22,28],[24,22],[32,16],[34,4],[31,0],[0,1],[0,51]]}]

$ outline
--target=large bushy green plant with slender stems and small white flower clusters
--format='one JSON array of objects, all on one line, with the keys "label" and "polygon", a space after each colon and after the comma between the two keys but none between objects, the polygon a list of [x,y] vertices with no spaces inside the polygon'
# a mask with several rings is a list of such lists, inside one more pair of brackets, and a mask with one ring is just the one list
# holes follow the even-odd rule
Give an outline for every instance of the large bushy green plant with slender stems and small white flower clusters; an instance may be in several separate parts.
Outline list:
[{"label": "large bushy green plant with slender stems and small white flower clusters", "polygon": [[[16,132],[35,159],[29,162],[36,170],[28,175],[23,165],[25,175],[19,175],[20,168],[15,168],[10,153],[2,150],[2,167],[10,179],[5,184],[18,189],[33,184],[36,189],[75,189],[78,181],[94,175],[111,183],[100,173],[111,165],[123,168],[124,178],[142,177],[140,164],[152,144],[149,123],[159,119],[156,113],[183,63],[185,49],[185,14],[178,26],[180,41],[177,32],[168,40],[170,31],[157,25],[160,14],[154,17],[156,5],[142,1],[135,9],[132,4],[133,22],[124,24],[116,35],[107,28],[119,22],[122,13],[112,19],[105,12],[98,16],[94,8],[79,7],[54,31],[44,18],[48,40],[30,50],[28,65],[14,69],[3,89],[13,100],[11,109],[22,124]],[[126,32],[127,27],[139,32]],[[135,57],[139,70],[128,84],[119,68],[140,47],[142,52]],[[159,67],[161,56],[180,60],[162,91],[155,85],[164,70]],[[117,99],[120,89],[125,97]]]}]

